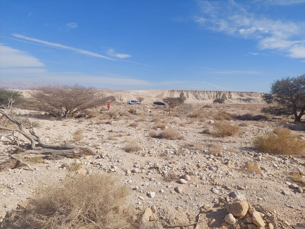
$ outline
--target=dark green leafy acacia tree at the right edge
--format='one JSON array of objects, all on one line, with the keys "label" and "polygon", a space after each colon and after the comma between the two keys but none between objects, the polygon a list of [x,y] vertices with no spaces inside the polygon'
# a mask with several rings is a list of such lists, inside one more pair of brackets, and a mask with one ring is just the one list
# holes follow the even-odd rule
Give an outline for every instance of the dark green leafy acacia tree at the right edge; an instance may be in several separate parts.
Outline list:
[{"label": "dark green leafy acacia tree at the right edge", "polygon": [[275,104],[263,108],[263,113],[294,115],[294,121],[300,122],[302,115],[305,115],[305,74],[274,80],[270,86],[270,93],[263,95],[263,100],[267,104]]}]

